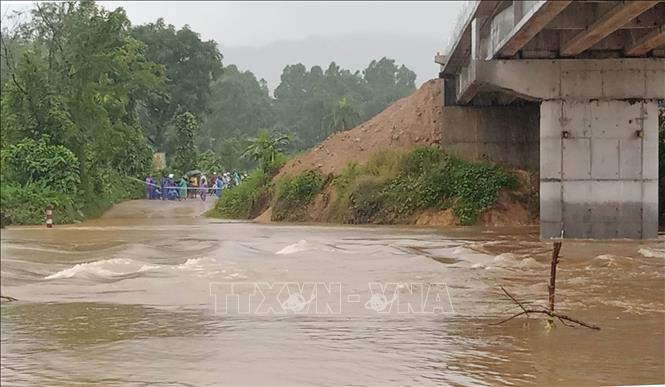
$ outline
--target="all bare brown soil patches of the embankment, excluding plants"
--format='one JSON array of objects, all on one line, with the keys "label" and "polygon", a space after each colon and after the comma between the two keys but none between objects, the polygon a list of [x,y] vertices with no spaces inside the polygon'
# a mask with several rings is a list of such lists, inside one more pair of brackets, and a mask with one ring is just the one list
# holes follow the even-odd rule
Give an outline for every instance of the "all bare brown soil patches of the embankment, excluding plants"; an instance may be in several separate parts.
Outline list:
[{"label": "all bare brown soil patches of the embankment, excluding plants", "polygon": [[[364,164],[372,153],[386,148],[413,149],[437,146],[441,139],[443,114],[441,85],[438,79],[425,82],[417,91],[402,98],[383,112],[357,127],[332,134],[310,152],[290,160],[279,174],[294,176],[306,170],[319,170],[323,175],[337,176],[349,161]],[[515,171],[520,188],[501,192],[497,203],[486,211],[480,222],[486,225],[533,224],[538,212],[538,178],[533,173]],[[325,221],[326,208],[335,194],[332,186],[319,194],[307,210],[311,221]],[[268,209],[257,221],[270,219]],[[445,226],[457,223],[452,210],[428,210],[416,214],[413,223],[419,225]]]}]

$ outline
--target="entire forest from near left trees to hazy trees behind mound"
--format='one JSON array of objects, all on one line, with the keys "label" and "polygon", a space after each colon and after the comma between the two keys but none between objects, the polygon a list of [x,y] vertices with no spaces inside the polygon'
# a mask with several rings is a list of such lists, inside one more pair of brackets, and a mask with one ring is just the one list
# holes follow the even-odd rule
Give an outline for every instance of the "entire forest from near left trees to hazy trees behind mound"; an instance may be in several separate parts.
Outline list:
[{"label": "entire forest from near left trees to hazy trees behind mound", "polygon": [[68,222],[141,195],[164,172],[155,152],[168,172],[250,169],[253,138],[288,134],[298,152],[415,89],[382,58],[362,72],[287,66],[273,96],[188,26],[132,26],[93,1],[5,15],[1,37],[1,207],[15,223],[41,222],[48,203]]}]

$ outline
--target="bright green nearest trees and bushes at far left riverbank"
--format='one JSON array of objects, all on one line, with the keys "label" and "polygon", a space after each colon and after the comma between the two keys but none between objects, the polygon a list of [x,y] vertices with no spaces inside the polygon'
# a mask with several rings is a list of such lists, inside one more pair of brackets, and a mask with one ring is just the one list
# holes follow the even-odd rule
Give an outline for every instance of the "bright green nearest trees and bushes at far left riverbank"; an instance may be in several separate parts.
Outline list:
[{"label": "bright green nearest trees and bushes at far left riverbank", "polygon": [[[2,31],[2,201],[9,221],[94,215],[135,194],[150,170],[137,107],[164,89],[124,11],[93,2],[40,3]],[[6,163],[5,163],[6,161]]]}]

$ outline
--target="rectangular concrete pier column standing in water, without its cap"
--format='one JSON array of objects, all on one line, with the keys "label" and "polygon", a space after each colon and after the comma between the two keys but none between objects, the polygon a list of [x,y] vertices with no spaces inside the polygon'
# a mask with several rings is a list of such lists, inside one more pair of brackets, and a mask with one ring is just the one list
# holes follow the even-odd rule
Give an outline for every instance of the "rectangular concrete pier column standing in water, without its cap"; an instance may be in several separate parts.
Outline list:
[{"label": "rectangular concrete pier column standing in water, without its cap", "polygon": [[655,238],[656,100],[545,100],[540,107],[543,238]]}]

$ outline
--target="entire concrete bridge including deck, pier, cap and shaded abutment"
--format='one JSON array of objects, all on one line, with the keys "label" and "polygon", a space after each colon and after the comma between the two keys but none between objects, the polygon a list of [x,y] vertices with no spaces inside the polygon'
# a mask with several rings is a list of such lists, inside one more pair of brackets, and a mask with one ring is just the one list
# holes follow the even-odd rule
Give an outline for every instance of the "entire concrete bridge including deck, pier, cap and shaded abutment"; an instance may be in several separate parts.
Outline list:
[{"label": "entire concrete bridge including deck, pier, cap and shaded abutment", "polygon": [[435,58],[444,114],[460,111],[464,127],[444,118],[444,147],[512,166],[539,159],[543,238],[655,238],[665,2],[466,5]]}]

